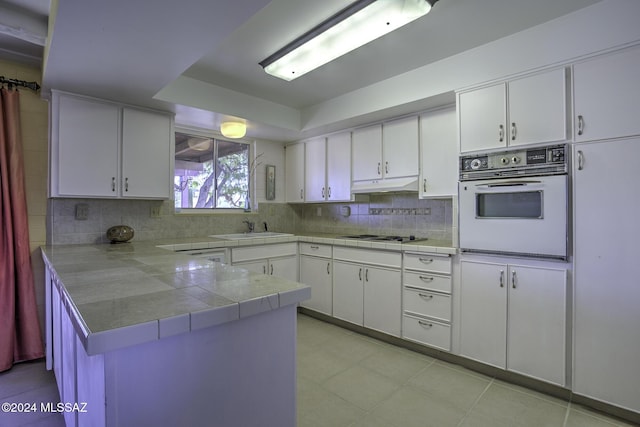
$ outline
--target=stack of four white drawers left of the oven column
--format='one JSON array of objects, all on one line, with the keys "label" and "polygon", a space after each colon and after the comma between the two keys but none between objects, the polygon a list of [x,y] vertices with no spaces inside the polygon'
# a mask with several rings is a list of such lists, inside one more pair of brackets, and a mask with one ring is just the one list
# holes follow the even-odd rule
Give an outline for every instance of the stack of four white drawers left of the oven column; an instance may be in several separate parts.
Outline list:
[{"label": "stack of four white drawers left of the oven column", "polygon": [[451,257],[405,253],[402,336],[451,350]]}]

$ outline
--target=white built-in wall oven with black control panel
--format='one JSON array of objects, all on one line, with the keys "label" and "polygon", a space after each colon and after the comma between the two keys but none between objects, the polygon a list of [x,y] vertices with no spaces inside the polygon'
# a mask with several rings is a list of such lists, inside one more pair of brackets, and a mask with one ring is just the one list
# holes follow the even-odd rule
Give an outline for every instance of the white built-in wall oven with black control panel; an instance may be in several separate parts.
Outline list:
[{"label": "white built-in wall oven with black control panel", "polygon": [[568,146],[460,157],[463,252],[567,259]]}]

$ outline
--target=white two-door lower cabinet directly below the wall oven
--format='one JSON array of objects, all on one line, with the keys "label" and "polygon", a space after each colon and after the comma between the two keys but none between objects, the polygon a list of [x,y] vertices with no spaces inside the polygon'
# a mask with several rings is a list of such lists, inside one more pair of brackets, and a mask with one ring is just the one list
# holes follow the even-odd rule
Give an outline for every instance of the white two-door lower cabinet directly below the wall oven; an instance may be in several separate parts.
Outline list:
[{"label": "white two-door lower cabinet directly below the wall oven", "polygon": [[460,353],[566,384],[567,270],[462,260]]}]

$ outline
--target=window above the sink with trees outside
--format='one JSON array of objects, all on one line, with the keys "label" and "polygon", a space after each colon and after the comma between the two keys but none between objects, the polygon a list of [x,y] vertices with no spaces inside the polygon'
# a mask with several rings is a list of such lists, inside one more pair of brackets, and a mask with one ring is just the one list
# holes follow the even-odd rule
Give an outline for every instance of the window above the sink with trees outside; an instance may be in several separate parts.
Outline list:
[{"label": "window above the sink with trees outside", "polygon": [[249,144],[176,132],[176,209],[243,209],[248,196]]}]

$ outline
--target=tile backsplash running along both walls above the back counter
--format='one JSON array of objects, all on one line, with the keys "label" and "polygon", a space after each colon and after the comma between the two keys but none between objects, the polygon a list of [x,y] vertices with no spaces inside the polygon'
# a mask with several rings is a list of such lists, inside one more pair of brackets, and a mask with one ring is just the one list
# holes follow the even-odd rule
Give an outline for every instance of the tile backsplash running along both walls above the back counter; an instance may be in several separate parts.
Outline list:
[{"label": "tile backsplash running along both walls above the back counter", "polygon": [[[76,206],[88,208],[76,219]],[[160,208],[153,216],[152,208]],[[348,207],[348,208],[345,208]],[[349,211],[349,215],[346,215]],[[129,225],[135,240],[202,237],[247,230],[244,220],[263,230],[287,233],[389,234],[453,240],[457,217],[452,199],[419,200],[416,193],[358,196],[347,203],[289,205],[261,202],[254,212],[176,214],[172,201],[49,199],[49,244],[106,243],[106,230]]]}]

